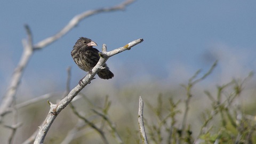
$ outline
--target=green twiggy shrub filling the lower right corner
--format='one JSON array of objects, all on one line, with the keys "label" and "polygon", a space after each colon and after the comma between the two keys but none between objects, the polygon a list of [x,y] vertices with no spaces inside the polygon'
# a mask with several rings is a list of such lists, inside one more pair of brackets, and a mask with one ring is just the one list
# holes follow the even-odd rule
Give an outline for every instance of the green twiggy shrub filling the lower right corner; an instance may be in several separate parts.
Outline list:
[{"label": "green twiggy shrub filling the lower right corner", "polygon": [[[182,85],[185,87],[187,99],[181,123],[177,122],[177,117],[182,111],[182,108],[178,108],[181,100],[175,103],[169,98],[169,105],[164,105],[163,96],[159,94],[157,107],[147,104],[158,119],[157,124],[146,123],[150,143],[256,143],[254,117],[243,113],[240,107],[241,103],[234,104],[234,101],[241,95],[243,84],[251,78],[252,73],[243,80],[233,79],[227,84],[217,86],[215,96],[210,91],[205,91],[212,102],[211,107],[202,114],[204,120],[198,136],[192,137],[193,133],[198,132],[191,130],[190,124],[187,123],[190,99],[193,96],[191,89],[196,83],[210,75],[215,66],[216,63],[203,77],[195,79],[199,74],[197,71],[189,79],[187,85]],[[169,109],[167,113],[164,113],[164,107]],[[181,126],[179,126],[180,124]]]}]

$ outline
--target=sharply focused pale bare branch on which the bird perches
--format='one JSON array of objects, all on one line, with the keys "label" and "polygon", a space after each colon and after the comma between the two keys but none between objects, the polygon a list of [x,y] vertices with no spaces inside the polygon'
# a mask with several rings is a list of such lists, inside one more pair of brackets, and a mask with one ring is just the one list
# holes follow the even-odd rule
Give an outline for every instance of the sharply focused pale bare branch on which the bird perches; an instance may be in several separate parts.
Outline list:
[{"label": "sharply focused pale bare branch on which the bird perches", "polygon": [[[101,55],[104,55],[104,58],[101,57],[100,60],[98,61],[97,65],[92,69],[92,73],[91,74],[87,74],[83,80],[82,80],[82,85],[77,85],[73,90],[71,90],[69,92],[69,94],[67,95],[67,97],[63,98],[57,105],[50,105],[50,111],[48,113],[48,115],[45,118],[44,123],[39,126],[39,131],[36,137],[36,140],[34,143],[43,143],[44,142],[44,138],[45,135],[47,134],[48,130],[51,127],[51,124],[53,123],[54,119],[58,116],[58,114],[60,113],[60,111],[62,109],[64,109],[75,97],[76,95],[87,85],[89,84],[92,79],[94,79],[94,76],[98,73],[98,71],[105,65],[106,61],[108,60],[109,57],[125,51],[125,50],[130,50],[131,47],[139,44],[143,42],[143,39],[137,39],[135,41],[132,41],[129,44],[126,44],[123,47],[120,47],[118,49],[115,49],[113,51],[110,52],[106,52],[106,53],[101,53]],[[103,47],[106,48],[106,45],[103,45]],[[105,49],[104,48],[104,49]]]}]

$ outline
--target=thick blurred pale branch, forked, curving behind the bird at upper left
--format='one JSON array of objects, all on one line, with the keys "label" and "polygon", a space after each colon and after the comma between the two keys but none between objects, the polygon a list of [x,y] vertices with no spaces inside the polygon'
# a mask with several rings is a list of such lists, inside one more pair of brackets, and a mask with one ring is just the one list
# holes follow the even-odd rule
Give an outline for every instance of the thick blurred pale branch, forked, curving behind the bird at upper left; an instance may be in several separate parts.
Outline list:
[{"label": "thick blurred pale branch, forked, curving behind the bird at upper left", "polygon": [[34,50],[43,49],[43,47],[57,41],[60,37],[67,34],[68,31],[70,31],[76,25],[78,25],[78,23],[80,21],[82,21],[83,19],[85,19],[87,17],[90,17],[91,15],[98,14],[101,12],[124,10],[127,5],[133,3],[134,1],[135,0],[126,0],[125,2],[118,4],[116,6],[113,6],[113,7],[102,8],[102,9],[98,9],[98,10],[90,10],[90,11],[86,11],[81,14],[78,14],[73,19],[71,19],[69,21],[68,25],[66,25],[62,30],[60,30],[59,33],[55,34],[54,36],[45,38],[44,40],[35,44],[34,46],[33,46],[33,39],[32,39],[32,35],[31,35],[31,31],[30,31],[28,25],[26,25],[25,29],[27,31],[28,38],[27,38],[27,41],[24,39],[22,41],[23,47],[24,47],[22,57],[20,59],[19,65],[14,70],[13,76],[11,78],[11,84],[10,84],[9,88],[7,89],[7,92],[2,100],[1,105],[0,105],[0,123],[2,121],[2,117],[5,114],[10,113],[12,111],[12,109],[10,107],[13,103],[15,94],[17,93],[17,89],[18,89],[19,83],[21,81],[21,77],[22,77],[24,68],[27,66],[28,61],[30,60],[31,55],[33,54]]}]

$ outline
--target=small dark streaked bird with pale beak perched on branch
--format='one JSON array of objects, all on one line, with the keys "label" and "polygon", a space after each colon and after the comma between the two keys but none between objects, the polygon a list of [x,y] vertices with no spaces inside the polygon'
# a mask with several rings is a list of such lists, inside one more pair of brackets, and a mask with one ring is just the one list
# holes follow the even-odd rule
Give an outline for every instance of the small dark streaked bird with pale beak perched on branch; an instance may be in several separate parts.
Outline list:
[{"label": "small dark streaked bird with pale beak perched on branch", "polygon": [[[76,62],[76,65],[89,73],[100,59],[99,51],[92,46],[97,46],[97,44],[89,38],[80,37],[71,51],[71,56]],[[101,69],[98,73],[100,78],[110,79],[114,77],[114,74],[109,70],[107,64],[103,67],[105,68]]]}]

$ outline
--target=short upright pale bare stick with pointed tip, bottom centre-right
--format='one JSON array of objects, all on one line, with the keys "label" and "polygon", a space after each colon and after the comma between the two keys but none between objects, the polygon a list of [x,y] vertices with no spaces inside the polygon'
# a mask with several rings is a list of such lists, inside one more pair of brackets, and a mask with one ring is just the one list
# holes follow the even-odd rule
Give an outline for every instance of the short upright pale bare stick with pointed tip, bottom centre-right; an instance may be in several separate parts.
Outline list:
[{"label": "short upright pale bare stick with pointed tip, bottom centre-right", "polygon": [[139,121],[139,129],[140,129],[142,143],[147,144],[148,140],[147,140],[147,135],[146,135],[144,122],[143,122],[143,101],[142,101],[141,96],[139,98],[139,113],[138,113],[138,115],[139,115],[138,121]]}]

